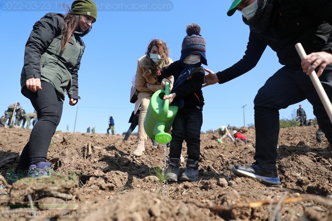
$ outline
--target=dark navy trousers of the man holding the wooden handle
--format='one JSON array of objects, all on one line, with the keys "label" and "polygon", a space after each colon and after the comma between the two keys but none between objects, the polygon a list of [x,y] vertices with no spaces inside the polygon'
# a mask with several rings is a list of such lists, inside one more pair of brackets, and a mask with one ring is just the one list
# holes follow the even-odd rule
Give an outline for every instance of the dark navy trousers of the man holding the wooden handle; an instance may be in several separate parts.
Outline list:
[{"label": "dark navy trousers of the man holding the wooden handle", "polygon": [[[325,70],[319,78],[323,88],[332,100],[332,70]],[[256,153],[254,159],[265,168],[275,168],[279,134],[279,110],[304,99],[313,105],[314,115],[332,143],[332,124],[314,88],[310,77],[302,70],[279,69],[258,90],[254,99]]]}]

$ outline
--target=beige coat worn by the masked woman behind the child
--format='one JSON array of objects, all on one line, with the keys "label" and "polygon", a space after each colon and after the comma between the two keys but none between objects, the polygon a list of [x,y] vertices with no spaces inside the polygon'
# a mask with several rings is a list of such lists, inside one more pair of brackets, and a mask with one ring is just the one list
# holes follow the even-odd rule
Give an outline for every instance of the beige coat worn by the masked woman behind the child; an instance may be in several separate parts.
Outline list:
[{"label": "beige coat worn by the masked woman behind the child", "polygon": [[[162,86],[157,81],[157,73],[156,76],[152,76],[147,68],[148,61],[147,59],[150,59],[147,57],[147,55],[143,55],[138,59],[137,62],[137,70],[136,70],[136,79],[135,79],[135,87],[139,91],[138,93],[138,99],[135,102],[135,111],[134,114],[136,114],[138,108],[141,106],[142,99],[151,97],[154,92],[157,90],[162,89]],[[168,58],[168,65],[171,64],[173,61],[172,59]],[[169,84],[169,88],[172,88],[174,78],[173,76],[170,76],[167,78],[171,83]],[[151,84],[152,89],[147,88],[146,84]]]}]

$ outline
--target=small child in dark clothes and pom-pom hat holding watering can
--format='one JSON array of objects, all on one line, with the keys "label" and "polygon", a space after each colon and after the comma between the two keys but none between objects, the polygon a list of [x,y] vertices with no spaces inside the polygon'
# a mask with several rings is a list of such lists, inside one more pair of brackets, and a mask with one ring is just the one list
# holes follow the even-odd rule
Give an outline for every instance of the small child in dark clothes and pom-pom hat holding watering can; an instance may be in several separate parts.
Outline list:
[{"label": "small child in dark clothes and pom-pom hat holding watering can", "polygon": [[205,72],[202,63],[207,65],[205,40],[200,35],[197,24],[187,26],[187,36],[183,39],[181,57],[178,61],[164,67],[158,72],[158,82],[165,88],[167,77],[173,75],[174,85],[169,95],[171,105],[178,106],[178,112],[172,124],[172,139],[169,148],[169,162],[166,170],[168,181],[177,181],[179,173],[182,143],[187,143],[186,170],[181,181],[198,179],[198,162],[200,157],[200,134],[203,124],[204,98],[202,84]]}]

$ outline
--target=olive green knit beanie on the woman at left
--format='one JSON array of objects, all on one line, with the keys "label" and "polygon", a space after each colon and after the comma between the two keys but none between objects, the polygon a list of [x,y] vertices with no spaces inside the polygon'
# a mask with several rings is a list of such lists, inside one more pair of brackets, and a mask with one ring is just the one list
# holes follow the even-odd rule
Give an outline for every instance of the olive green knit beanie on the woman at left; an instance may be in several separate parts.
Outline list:
[{"label": "olive green knit beanie on the woman at left", "polygon": [[89,15],[97,20],[97,6],[92,0],[74,0],[71,11],[74,14]]}]

